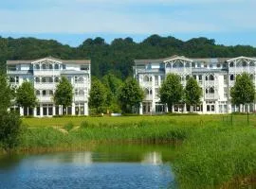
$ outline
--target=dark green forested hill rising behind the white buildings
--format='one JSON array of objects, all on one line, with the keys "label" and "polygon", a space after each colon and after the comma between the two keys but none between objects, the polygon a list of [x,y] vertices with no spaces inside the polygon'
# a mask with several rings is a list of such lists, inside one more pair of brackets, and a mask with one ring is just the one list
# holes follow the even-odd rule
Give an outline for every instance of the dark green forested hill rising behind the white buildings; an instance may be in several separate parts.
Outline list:
[{"label": "dark green forested hill rising behind the white buildings", "polygon": [[190,58],[256,57],[256,48],[248,45],[219,45],[207,38],[194,38],[183,42],[174,37],[158,35],[152,35],[141,43],[135,43],[128,37],[115,39],[109,44],[98,37],[87,39],[78,47],[70,47],[53,40],[0,37],[1,67],[5,66],[6,60],[33,60],[46,56],[67,60],[90,59],[92,75],[96,77],[102,77],[109,72],[122,78],[131,76],[133,60],[158,59],[173,55]]}]

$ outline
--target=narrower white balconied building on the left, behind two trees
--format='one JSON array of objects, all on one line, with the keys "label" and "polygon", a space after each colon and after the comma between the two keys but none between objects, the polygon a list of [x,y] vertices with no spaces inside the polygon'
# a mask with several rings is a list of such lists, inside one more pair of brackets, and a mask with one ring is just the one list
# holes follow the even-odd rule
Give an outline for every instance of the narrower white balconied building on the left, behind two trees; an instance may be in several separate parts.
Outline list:
[{"label": "narrower white balconied building on the left, behind two trees", "polygon": [[[12,86],[24,80],[33,83],[38,106],[24,110],[13,105],[21,115],[52,116],[61,114],[88,115],[88,94],[91,85],[90,60],[8,60],[7,74]],[[53,94],[61,77],[67,77],[74,88],[72,106],[66,110],[53,102]]]}]

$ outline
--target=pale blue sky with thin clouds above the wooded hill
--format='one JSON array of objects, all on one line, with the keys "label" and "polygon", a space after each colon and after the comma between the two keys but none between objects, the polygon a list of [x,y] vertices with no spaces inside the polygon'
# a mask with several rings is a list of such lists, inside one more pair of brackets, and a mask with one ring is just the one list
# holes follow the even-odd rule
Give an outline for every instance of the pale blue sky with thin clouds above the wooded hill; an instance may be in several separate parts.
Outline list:
[{"label": "pale blue sky with thin clouds above the wooded hill", "polygon": [[77,46],[97,36],[110,43],[159,34],[256,46],[256,0],[0,0],[0,5],[2,37]]}]

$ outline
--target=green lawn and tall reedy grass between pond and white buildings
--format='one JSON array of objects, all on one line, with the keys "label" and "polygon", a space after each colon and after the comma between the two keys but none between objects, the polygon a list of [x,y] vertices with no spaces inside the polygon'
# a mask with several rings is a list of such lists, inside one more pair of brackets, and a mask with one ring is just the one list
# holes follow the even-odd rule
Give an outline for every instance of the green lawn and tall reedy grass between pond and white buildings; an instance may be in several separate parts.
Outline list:
[{"label": "green lawn and tall reedy grass between pond and white buildings", "polygon": [[240,187],[256,175],[254,114],[248,121],[247,115],[162,115],[24,118],[23,124],[20,149],[27,151],[175,142],[180,147],[172,166],[180,188],[234,188],[243,180]]}]

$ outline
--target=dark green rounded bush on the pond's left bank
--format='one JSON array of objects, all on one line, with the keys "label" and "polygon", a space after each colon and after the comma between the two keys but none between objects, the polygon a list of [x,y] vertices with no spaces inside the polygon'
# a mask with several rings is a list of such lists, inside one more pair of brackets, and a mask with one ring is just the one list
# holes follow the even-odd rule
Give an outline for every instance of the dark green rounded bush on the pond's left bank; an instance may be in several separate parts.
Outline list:
[{"label": "dark green rounded bush on the pond's left bank", "polygon": [[19,114],[15,112],[0,114],[0,143],[5,150],[18,146],[21,130]]}]

